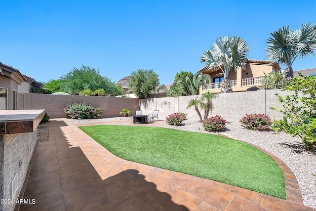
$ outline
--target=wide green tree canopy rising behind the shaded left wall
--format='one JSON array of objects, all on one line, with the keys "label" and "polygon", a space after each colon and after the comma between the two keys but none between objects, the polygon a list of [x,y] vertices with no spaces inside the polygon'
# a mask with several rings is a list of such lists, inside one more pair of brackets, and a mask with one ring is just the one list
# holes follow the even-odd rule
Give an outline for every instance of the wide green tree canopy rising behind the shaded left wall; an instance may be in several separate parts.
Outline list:
[{"label": "wide green tree canopy rising behind the shaded left wall", "polygon": [[82,90],[90,89],[95,91],[104,89],[107,96],[116,96],[119,94],[118,87],[107,77],[100,75],[99,69],[90,68],[82,65],[80,68],[73,68],[59,80],[61,90],[70,94],[79,93]]}]

